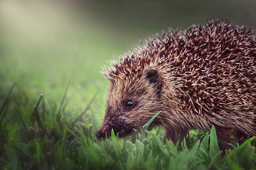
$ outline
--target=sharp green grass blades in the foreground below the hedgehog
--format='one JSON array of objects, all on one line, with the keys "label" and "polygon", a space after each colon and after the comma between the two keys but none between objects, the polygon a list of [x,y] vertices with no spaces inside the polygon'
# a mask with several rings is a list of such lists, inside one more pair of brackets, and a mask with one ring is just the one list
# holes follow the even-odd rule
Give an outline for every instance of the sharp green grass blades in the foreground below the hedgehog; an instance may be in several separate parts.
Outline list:
[{"label": "sharp green grass blades in the foreground below the hedgehog", "polygon": [[[5,101],[9,101],[13,86]],[[12,120],[17,117],[4,114],[9,102],[3,103],[1,169],[256,168],[255,147],[251,145],[255,137],[225,154],[219,149],[214,126],[210,133],[193,131],[187,140],[173,143],[163,137],[161,129],[146,130],[160,112],[131,137],[119,139],[112,131],[111,138],[99,141],[93,125],[80,121],[83,114],[93,116],[87,113],[91,102],[77,118],[71,118],[65,110],[66,93],[58,107],[50,107],[43,95],[30,113],[15,107],[19,119],[15,123]]]}]

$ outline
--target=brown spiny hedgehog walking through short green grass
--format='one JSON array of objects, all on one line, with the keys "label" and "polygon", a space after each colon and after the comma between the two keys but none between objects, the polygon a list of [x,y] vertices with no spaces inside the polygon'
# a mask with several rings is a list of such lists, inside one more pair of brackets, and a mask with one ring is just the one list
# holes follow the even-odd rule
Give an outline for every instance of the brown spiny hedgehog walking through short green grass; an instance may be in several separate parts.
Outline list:
[{"label": "brown spiny hedgehog walking through short green grass", "polygon": [[150,127],[164,127],[173,142],[215,126],[228,149],[256,134],[255,60],[255,33],[246,26],[210,20],[168,29],[103,67],[110,87],[96,136],[112,129],[126,136],[161,111]]}]

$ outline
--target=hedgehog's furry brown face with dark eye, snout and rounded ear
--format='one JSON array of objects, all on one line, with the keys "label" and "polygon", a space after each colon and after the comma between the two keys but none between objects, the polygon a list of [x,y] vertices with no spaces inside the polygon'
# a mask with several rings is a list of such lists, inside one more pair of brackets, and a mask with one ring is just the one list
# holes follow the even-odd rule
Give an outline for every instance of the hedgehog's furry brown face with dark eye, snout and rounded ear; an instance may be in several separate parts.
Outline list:
[{"label": "hedgehog's furry brown face with dark eye, snout and rounded ear", "polygon": [[[110,136],[112,129],[125,136],[146,124],[160,110],[158,71],[147,69],[139,78],[131,79],[111,82],[104,120],[96,133],[99,139],[105,134]],[[153,124],[157,122],[156,118]]]}]

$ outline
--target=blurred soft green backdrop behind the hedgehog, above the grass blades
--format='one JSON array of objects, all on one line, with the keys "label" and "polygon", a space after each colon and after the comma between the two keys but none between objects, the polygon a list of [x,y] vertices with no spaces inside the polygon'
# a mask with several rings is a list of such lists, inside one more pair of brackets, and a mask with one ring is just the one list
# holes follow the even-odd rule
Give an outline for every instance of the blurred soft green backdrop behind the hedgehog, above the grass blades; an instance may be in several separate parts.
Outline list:
[{"label": "blurred soft green backdrop behind the hedgehog, above the grass blades", "polygon": [[[167,28],[229,18],[256,28],[256,1],[0,1],[0,102],[17,81],[11,105],[32,110],[44,93],[59,105],[71,78],[70,113],[104,115],[107,60]],[[9,107],[10,110],[13,107]],[[11,113],[11,112],[10,112]],[[15,115],[16,116],[16,115]],[[71,115],[72,116],[72,115]],[[96,124],[96,125],[95,125]]]}]

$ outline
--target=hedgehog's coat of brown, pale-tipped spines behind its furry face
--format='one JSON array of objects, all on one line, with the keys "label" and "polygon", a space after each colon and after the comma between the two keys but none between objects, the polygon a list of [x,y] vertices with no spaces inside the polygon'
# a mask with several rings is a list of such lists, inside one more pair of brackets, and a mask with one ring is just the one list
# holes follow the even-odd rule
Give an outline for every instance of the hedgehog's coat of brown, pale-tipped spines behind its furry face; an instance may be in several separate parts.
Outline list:
[{"label": "hedgehog's coat of brown, pale-tipped spines behind its furry face", "polygon": [[[179,103],[191,113],[216,114],[230,108],[255,116],[255,33],[227,21],[208,21],[186,30],[168,30],[113,61],[110,81],[136,80],[145,67],[168,72]],[[167,82],[163,82],[167,83]],[[239,113],[238,113],[239,114]]]}]

